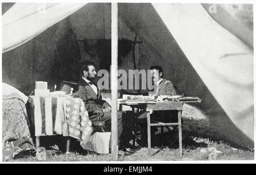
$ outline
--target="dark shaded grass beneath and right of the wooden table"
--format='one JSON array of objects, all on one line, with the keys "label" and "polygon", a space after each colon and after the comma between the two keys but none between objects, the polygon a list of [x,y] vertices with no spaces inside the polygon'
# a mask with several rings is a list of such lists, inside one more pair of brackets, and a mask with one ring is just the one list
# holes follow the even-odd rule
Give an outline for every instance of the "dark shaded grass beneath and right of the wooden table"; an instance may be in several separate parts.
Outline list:
[{"label": "dark shaded grass beneath and right of the wooden table", "polygon": [[[154,130],[154,127],[151,127]],[[145,133],[146,131],[144,131]],[[147,135],[142,136],[140,146],[147,147]],[[197,148],[208,147],[208,142],[214,142],[218,144],[227,144],[230,147],[238,148],[241,150],[249,150],[248,148],[241,147],[235,143],[227,140],[224,135],[220,134],[216,127],[210,126],[208,119],[193,119],[184,118],[182,126],[182,138],[183,148],[189,150],[196,150]],[[202,139],[205,140],[202,141]],[[151,147],[170,149],[179,148],[179,132],[176,127],[175,131],[169,131],[164,134],[153,135],[151,134]],[[251,151],[251,150],[249,150]]]}]

